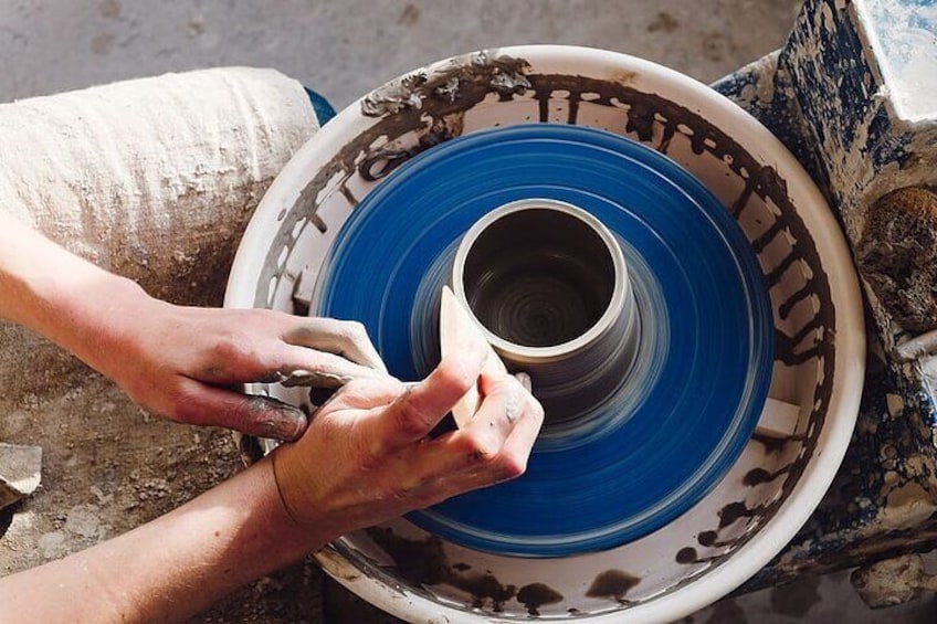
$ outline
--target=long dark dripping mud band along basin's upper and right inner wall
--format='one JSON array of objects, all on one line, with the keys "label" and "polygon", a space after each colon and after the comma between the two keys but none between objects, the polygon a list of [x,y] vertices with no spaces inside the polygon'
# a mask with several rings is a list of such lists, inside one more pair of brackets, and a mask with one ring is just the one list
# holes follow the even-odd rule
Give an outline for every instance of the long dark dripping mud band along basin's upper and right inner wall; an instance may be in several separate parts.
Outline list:
[{"label": "long dark dripping mud band along basin's upper and right inner wall", "polygon": [[[544,120],[549,118],[550,101],[566,99],[569,123],[577,123],[580,103],[588,94],[590,105],[602,105],[627,112],[624,130],[640,140],[650,142],[660,130],[657,148],[666,151],[671,140],[680,133],[689,141],[695,154],[710,152],[726,165],[745,182],[745,189],[731,207],[733,212],[741,214],[748,200],[759,197],[770,200],[779,214],[768,229],[752,241],[756,253],[764,252],[775,241],[781,240],[789,247],[780,260],[776,271],[766,276],[766,282],[775,285],[783,279],[785,272],[796,268],[799,263],[812,269],[812,277],[803,288],[781,302],[781,316],[788,318],[794,306],[803,299],[815,297],[819,311],[806,319],[802,325],[792,328],[792,335],[778,331],[776,335],[776,358],[787,366],[802,366],[815,360],[817,379],[813,411],[806,432],[799,437],[785,441],[766,442],[766,451],[779,452],[793,440],[801,442],[798,456],[787,468],[781,493],[771,504],[758,509],[747,510],[761,519],[769,519],[783,504],[791,489],[798,483],[803,469],[815,451],[815,442],[823,430],[827,409],[832,395],[832,381],[835,362],[835,308],[830,305],[832,297],[827,275],[820,271],[820,258],[812,243],[810,232],[798,215],[788,197],[787,186],[778,171],[764,166],[736,142],[728,134],[714,127],[702,115],[682,107],[655,94],[643,93],[630,86],[632,81],[599,80],[577,75],[533,74],[523,59],[499,55],[497,51],[482,52],[453,60],[449,65],[433,74],[412,74],[408,82],[401,81],[396,87],[376,92],[369,99],[368,109],[362,113],[378,115],[375,125],[354,137],[319,171],[302,191],[297,204],[281,223],[277,237],[271,245],[271,257],[264,263],[264,275],[256,294],[256,303],[264,306],[271,296],[272,283],[282,273],[276,254],[291,241],[297,222],[309,219],[318,209],[323,192],[327,189],[340,189],[355,176],[361,162],[376,155],[389,165],[399,165],[427,146],[449,140],[462,133],[465,110],[495,94],[502,101],[536,99]],[[554,94],[557,94],[556,96]],[[396,110],[396,112],[394,112]],[[415,138],[414,138],[415,137]],[[423,144],[421,137],[430,137]],[[397,154],[401,150],[404,154]],[[390,158],[388,158],[390,157]],[[396,158],[396,159],[394,159]],[[379,168],[380,158],[368,162],[368,171],[386,174]],[[391,169],[392,170],[392,169]],[[336,186],[337,183],[337,186]],[[347,199],[347,195],[346,195]],[[349,200],[350,201],[350,200]],[[811,364],[813,366],[813,364]],[[731,516],[731,511],[745,508],[724,509],[719,525]],[[735,547],[750,539],[746,533],[735,538]],[[676,589],[676,588],[675,588]]]}]

